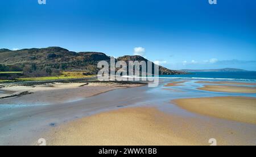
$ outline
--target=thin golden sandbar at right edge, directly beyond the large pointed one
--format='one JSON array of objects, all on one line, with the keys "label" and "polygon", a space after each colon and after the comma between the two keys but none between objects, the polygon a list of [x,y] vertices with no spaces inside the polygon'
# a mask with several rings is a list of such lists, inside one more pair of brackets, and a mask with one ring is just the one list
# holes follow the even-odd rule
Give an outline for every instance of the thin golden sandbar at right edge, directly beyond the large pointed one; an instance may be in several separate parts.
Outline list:
[{"label": "thin golden sandbar at right edge, directly beyond the large pointed one", "polygon": [[227,92],[227,93],[256,93],[256,87],[252,86],[233,86],[233,85],[205,85],[200,90],[210,92]]}]

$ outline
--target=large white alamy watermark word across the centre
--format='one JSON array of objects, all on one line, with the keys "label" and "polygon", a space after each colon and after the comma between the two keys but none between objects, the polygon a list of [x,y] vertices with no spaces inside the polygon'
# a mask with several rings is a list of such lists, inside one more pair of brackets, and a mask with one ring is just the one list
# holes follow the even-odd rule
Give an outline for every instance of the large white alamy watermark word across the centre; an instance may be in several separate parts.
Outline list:
[{"label": "large white alamy watermark word across the centre", "polygon": [[116,62],[114,57],[110,57],[110,63],[103,60],[97,67],[100,68],[97,75],[100,81],[148,81],[149,87],[159,85],[159,65],[151,61]]}]

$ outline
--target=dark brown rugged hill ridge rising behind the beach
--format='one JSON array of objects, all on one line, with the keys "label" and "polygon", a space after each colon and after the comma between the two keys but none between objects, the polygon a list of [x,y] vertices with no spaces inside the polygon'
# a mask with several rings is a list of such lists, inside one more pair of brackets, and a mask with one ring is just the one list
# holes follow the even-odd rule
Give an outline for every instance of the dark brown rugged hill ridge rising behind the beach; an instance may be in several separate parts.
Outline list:
[{"label": "dark brown rugged hill ridge rising behind the beach", "polygon": [[[0,64],[11,65],[23,69],[60,69],[61,71],[85,71],[96,74],[98,61],[110,61],[110,57],[101,52],[72,52],[61,47],[31,48],[11,51],[0,49]],[[142,56],[123,56],[117,60],[123,61],[148,61]],[[183,74],[184,72],[172,71],[160,67],[160,75]]]}]

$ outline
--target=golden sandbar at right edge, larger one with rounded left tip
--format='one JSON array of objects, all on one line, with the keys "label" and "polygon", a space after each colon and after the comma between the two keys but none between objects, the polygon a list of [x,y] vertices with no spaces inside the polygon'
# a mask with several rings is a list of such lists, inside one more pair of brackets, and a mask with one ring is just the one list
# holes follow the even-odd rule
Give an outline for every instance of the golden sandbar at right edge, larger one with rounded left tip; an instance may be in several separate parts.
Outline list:
[{"label": "golden sandbar at right edge, larger one with rounded left tip", "polygon": [[193,113],[256,125],[254,97],[187,98],[173,102]]}]

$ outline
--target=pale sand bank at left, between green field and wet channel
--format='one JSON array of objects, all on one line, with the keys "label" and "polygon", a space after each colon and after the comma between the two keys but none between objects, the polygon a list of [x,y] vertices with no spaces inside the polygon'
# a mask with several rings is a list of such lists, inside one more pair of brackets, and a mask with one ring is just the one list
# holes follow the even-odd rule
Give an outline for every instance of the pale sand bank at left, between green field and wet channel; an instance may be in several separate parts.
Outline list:
[{"label": "pale sand bank at left, between green field and wet channel", "polygon": [[[119,84],[118,82],[53,83],[23,86],[7,85],[1,90],[0,104],[60,104],[67,101],[95,96],[110,90],[142,86],[142,84]],[[23,94],[23,93],[29,93]],[[8,97],[8,98],[5,98]]]}]

